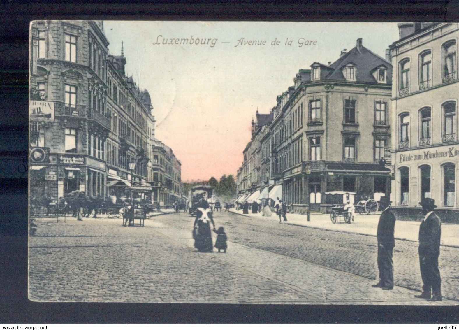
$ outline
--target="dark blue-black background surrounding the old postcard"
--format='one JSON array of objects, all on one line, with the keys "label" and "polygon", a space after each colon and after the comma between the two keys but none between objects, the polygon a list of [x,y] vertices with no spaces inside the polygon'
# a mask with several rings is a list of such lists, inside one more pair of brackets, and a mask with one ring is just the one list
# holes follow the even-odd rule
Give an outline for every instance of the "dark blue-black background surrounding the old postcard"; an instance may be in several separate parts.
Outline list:
[{"label": "dark blue-black background surrounding the old postcard", "polygon": [[28,159],[28,28],[32,20],[458,22],[458,1],[4,0],[0,17],[0,157],[14,158],[11,167],[16,173],[0,173],[0,324],[459,323],[458,307],[30,302],[24,170]]}]

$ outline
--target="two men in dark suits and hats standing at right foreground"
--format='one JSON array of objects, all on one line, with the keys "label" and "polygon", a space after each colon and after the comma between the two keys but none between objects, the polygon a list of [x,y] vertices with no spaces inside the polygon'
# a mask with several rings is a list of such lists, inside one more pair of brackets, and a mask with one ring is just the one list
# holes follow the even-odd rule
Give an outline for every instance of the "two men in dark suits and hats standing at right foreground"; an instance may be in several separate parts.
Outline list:
[{"label": "two men in dark suits and hats standing at right foreground", "polygon": [[[437,205],[433,199],[424,198],[419,204],[422,206],[422,213],[424,214],[424,219],[419,227],[418,247],[423,286],[422,293],[415,295],[415,297],[429,301],[442,301],[441,277],[438,269],[441,221],[434,212]],[[384,210],[379,218],[376,232],[379,281],[373,287],[392,290],[394,286],[392,252],[395,246],[395,215],[390,207],[389,197],[381,197],[380,205]]]}]

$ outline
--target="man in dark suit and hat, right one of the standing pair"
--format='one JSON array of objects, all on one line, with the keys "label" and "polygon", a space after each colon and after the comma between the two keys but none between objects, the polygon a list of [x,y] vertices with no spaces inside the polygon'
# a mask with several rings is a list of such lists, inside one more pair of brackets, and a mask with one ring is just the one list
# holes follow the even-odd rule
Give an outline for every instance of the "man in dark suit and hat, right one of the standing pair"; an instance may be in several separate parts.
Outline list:
[{"label": "man in dark suit and hat, right one of the standing pair", "polygon": [[[424,198],[419,203],[425,218],[419,226],[419,263],[422,277],[422,293],[416,298],[425,298],[429,301],[441,301],[441,277],[438,269],[440,254],[441,220],[434,213],[435,201]],[[431,296],[432,295],[432,296]]]}]

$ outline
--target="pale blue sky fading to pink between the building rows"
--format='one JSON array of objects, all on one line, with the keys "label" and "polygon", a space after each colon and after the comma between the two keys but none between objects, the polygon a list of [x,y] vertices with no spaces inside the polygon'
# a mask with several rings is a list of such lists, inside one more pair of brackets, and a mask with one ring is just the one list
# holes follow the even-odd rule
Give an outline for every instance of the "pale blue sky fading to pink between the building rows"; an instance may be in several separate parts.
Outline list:
[{"label": "pale blue sky fading to pink between the building rows", "polygon": [[252,117],[269,113],[298,70],[335,62],[358,38],[385,57],[398,39],[397,23],[374,22],[105,21],[104,30],[110,54],[123,41],[126,74],[150,93],[156,138],[184,181],[235,176]]}]

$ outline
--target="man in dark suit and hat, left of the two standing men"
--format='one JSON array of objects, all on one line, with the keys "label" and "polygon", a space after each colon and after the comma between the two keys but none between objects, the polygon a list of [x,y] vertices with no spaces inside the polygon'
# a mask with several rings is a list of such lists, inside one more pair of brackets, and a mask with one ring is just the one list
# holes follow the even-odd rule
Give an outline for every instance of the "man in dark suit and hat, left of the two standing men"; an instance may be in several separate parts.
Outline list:
[{"label": "man in dark suit and hat, left of the two standing men", "polygon": [[382,290],[392,290],[394,287],[394,264],[392,262],[392,251],[395,246],[394,227],[395,215],[391,210],[389,197],[383,196],[380,200],[383,209],[379,217],[376,236],[378,239],[378,269],[379,282],[372,285]]}]

